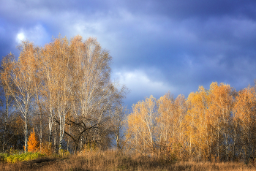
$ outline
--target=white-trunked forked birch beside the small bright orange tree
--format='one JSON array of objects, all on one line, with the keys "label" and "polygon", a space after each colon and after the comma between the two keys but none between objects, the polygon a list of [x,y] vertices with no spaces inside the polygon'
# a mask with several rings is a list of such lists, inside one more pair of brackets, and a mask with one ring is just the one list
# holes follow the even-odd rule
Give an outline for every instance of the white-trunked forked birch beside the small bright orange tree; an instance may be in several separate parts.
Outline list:
[{"label": "white-trunked forked birch beside the small bright orange tree", "polygon": [[34,47],[31,42],[22,42],[20,50],[18,61],[13,59],[8,64],[12,68],[8,72],[8,77],[10,77],[14,86],[8,84],[7,89],[15,99],[18,109],[23,115],[23,121],[25,123],[25,151],[27,151],[29,107],[31,106],[31,100],[35,92],[34,83],[37,75],[37,61],[35,56],[38,54],[38,48]]}]

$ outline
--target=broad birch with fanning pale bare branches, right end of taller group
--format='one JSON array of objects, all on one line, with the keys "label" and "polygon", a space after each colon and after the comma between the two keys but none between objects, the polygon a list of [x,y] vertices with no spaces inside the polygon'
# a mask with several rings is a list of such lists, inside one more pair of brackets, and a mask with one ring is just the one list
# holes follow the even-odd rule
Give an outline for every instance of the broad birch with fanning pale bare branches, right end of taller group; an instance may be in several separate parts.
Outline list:
[{"label": "broad birch with fanning pale bare branches, right end of taller group", "polygon": [[[74,75],[77,78],[77,91],[74,94],[77,99],[72,101],[73,109],[75,104],[79,104],[78,109],[73,111],[87,127],[92,127],[105,120],[106,113],[113,109],[118,96],[123,95],[116,91],[116,86],[110,81],[111,56],[107,50],[102,50],[96,39],[89,38],[82,42],[82,37],[75,37],[71,40],[70,48],[75,58]],[[96,130],[94,136],[99,142],[101,138]]]}]

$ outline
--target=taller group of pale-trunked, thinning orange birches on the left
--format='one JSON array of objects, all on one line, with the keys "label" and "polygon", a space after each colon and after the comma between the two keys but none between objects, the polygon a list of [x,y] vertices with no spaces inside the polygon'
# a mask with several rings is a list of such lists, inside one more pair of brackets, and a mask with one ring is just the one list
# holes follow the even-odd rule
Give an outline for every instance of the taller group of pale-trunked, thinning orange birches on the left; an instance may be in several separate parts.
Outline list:
[{"label": "taller group of pale-trunked, thinning orange birches on the left", "polygon": [[18,60],[10,53],[1,61],[2,150],[24,145],[27,151],[32,127],[40,143],[55,148],[63,142],[75,152],[91,142],[108,148],[127,94],[110,80],[108,51],[96,39],[83,42],[80,36],[19,47]]}]

